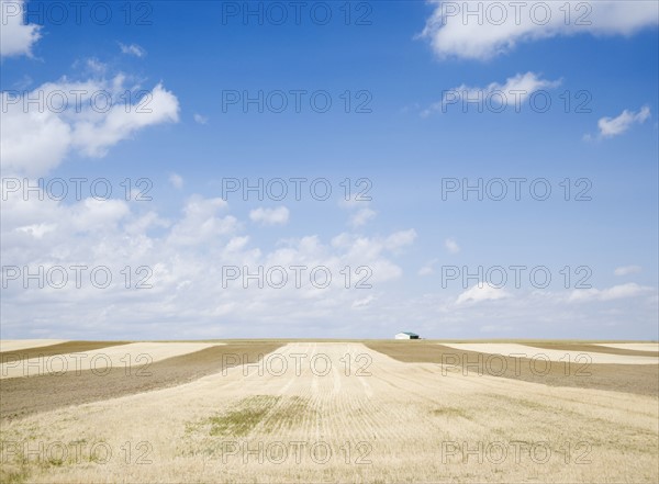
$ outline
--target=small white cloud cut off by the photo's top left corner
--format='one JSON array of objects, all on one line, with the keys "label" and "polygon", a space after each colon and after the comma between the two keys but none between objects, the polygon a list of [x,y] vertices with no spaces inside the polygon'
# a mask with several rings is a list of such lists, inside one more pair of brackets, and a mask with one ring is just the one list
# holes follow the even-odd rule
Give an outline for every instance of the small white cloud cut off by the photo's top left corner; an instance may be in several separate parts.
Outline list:
[{"label": "small white cloud cut off by the photo's top left corner", "polygon": [[32,46],[40,37],[40,26],[25,24],[24,0],[0,0],[0,57],[32,56]]}]

